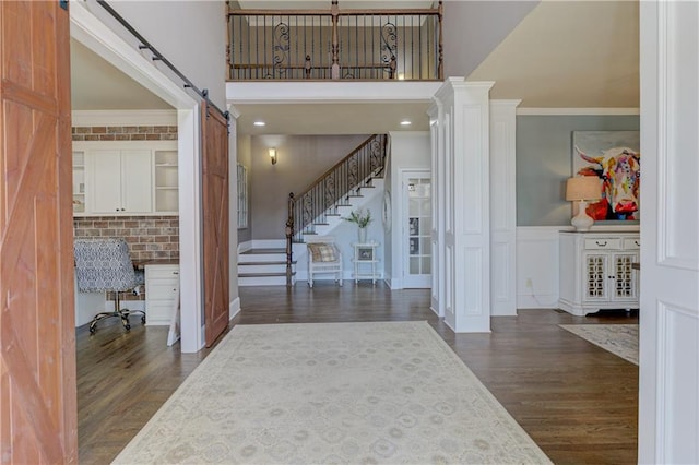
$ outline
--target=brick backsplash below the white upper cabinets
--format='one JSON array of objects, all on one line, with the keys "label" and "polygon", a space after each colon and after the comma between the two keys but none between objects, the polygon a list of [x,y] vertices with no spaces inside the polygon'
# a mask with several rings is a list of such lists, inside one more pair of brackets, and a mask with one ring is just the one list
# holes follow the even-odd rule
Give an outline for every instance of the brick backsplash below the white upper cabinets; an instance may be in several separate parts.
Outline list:
[{"label": "brick backsplash below the white upper cabinets", "polygon": [[131,260],[179,259],[178,216],[74,217],[75,237],[122,237]]}]

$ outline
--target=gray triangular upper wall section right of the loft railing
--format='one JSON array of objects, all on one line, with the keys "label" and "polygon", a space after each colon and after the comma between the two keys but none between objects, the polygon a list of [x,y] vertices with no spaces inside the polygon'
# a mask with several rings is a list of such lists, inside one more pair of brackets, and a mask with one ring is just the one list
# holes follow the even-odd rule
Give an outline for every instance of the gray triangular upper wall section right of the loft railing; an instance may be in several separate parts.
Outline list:
[{"label": "gray triangular upper wall section right of the loft railing", "polygon": [[467,78],[538,3],[445,1],[445,78]]}]

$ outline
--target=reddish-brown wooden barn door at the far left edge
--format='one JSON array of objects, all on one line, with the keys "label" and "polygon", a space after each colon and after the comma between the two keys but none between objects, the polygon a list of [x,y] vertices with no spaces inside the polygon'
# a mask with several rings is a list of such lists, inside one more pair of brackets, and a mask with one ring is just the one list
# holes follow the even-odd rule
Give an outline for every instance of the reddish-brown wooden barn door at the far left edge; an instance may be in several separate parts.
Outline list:
[{"label": "reddish-brown wooden barn door at the far left edge", "polygon": [[0,1],[2,463],[75,463],[69,16]]}]

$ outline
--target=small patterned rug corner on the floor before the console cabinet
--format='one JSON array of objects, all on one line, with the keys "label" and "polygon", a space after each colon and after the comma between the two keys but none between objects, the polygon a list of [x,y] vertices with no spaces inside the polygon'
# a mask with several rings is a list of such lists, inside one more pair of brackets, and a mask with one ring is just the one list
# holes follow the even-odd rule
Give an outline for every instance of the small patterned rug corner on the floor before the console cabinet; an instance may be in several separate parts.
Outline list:
[{"label": "small patterned rug corner on the floor before the console cabinet", "polygon": [[560,324],[559,326],[638,365],[638,324]]}]

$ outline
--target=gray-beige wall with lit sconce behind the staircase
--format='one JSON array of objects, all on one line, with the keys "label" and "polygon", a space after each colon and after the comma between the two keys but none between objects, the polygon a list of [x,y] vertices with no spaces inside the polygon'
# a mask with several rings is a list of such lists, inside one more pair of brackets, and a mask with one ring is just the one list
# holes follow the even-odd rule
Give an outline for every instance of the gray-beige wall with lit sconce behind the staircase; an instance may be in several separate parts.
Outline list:
[{"label": "gray-beige wall with lit sconce behind the staircase", "polygon": [[[369,135],[254,135],[249,171],[253,239],[284,239],[288,193],[300,194]],[[276,147],[277,163],[269,148]]]}]

